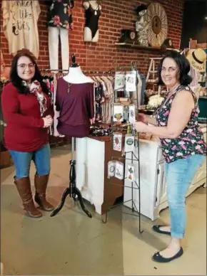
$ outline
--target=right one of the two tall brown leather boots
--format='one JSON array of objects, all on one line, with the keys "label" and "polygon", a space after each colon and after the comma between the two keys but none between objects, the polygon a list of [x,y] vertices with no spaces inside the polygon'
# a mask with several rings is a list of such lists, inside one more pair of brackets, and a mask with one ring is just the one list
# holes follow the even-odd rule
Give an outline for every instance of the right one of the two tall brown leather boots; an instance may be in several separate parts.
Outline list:
[{"label": "right one of the two tall brown leather boots", "polygon": [[34,196],[34,200],[36,203],[39,204],[39,206],[44,210],[44,211],[53,211],[54,206],[51,205],[48,201],[46,201],[46,187],[49,181],[49,174],[46,176],[39,176],[35,175],[34,176],[34,186],[36,189],[36,193]]}]

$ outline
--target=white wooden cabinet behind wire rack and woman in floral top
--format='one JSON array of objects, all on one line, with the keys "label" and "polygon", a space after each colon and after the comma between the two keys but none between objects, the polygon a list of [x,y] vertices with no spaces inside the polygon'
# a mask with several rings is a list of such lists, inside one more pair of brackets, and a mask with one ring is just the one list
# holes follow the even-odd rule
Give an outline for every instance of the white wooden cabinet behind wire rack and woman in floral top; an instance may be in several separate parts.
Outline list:
[{"label": "white wooden cabinet behind wire rack and woman in floral top", "polygon": [[[206,133],[204,133],[204,138],[206,139]],[[134,154],[136,156],[138,154],[136,148],[134,149]],[[127,154],[127,159],[130,157],[131,155]],[[130,163],[131,161],[126,160],[126,170],[127,164]],[[136,172],[138,172],[138,166],[136,166]],[[158,218],[160,211],[168,207],[164,162],[158,142],[140,141],[140,173],[141,214],[154,221]],[[137,175],[136,181],[138,181]],[[202,185],[206,185],[206,161],[198,169],[188,189],[187,196]],[[133,189],[132,196],[131,189],[126,188],[126,186],[131,186],[131,182],[128,179],[125,179],[124,186],[124,202],[130,201],[133,197],[133,201],[138,209],[138,190]],[[124,205],[131,208],[131,202],[126,202]]]}]

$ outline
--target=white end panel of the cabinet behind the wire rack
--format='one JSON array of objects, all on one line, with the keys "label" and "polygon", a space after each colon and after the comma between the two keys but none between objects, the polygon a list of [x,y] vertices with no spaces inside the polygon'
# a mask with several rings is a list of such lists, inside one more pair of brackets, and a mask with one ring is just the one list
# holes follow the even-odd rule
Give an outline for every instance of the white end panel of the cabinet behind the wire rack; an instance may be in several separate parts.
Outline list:
[{"label": "white end panel of the cabinet behind the wire rack", "polygon": [[[138,149],[134,148],[134,154],[138,156]],[[128,164],[131,164],[131,153],[126,154],[126,173]],[[155,218],[154,209],[157,206],[157,181],[158,166],[162,164],[163,158],[160,154],[160,148],[157,142],[140,140],[140,193],[141,193],[141,214],[151,218]],[[138,162],[133,161],[135,166],[135,181],[138,183]],[[160,175],[160,174],[159,174]],[[132,190],[131,181],[127,178],[124,181],[124,205],[131,208]],[[136,187],[136,184],[133,184]],[[138,209],[138,190],[133,189],[133,203]]]}]

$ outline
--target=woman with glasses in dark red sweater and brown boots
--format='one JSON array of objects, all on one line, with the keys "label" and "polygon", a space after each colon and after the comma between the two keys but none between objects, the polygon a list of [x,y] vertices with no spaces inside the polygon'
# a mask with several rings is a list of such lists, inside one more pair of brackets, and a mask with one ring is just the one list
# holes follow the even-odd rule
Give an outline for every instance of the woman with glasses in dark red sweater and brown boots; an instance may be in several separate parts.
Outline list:
[{"label": "woman with glasses in dark red sweater and brown boots", "polygon": [[4,87],[1,105],[6,120],[4,139],[14,161],[14,183],[23,201],[24,209],[33,218],[42,216],[34,206],[29,179],[31,160],[36,166],[34,186],[36,203],[45,211],[54,207],[46,201],[46,187],[50,172],[48,127],[54,111],[49,90],[36,65],[34,55],[19,51],[11,64],[11,82]]}]

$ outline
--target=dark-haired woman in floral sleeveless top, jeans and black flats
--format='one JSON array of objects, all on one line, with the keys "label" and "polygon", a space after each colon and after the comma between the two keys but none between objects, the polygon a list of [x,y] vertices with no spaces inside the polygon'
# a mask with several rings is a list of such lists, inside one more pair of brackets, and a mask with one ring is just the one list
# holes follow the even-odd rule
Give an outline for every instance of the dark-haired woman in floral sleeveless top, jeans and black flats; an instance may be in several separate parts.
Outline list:
[{"label": "dark-haired woman in floral sleeveless top, jeans and black flats", "polygon": [[171,225],[154,225],[158,233],[171,235],[165,250],[153,255],[157,262],[169,262],[183,255],[181,239],[186,231],[186,193],[206,159],[206,144],[198,126],[198,101],[188,87],[188,60],[176,51],[168,51],[158,68],[158,84],[168,88],[168,95],[156,111],[156,118],[139,114],[138,132],[158,135],[165,159],[168,206]]}]

